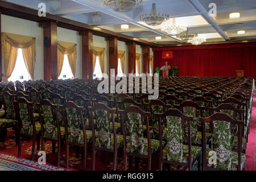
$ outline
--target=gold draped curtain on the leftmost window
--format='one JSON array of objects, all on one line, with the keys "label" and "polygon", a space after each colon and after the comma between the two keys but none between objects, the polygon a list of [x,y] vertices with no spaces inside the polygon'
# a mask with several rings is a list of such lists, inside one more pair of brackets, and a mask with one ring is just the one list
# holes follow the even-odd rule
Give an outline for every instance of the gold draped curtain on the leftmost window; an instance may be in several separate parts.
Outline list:
[{"label": "gold draped curtain on the leftmost window", "polygon": [[13,73],[16,59],[18,56],[18,48],[22,49],[24,62],[31,80],[34,80],[36,48],[35,40],[31,36],[17,35],[2,32],[2,53],[5,61],[5,81]]}]

